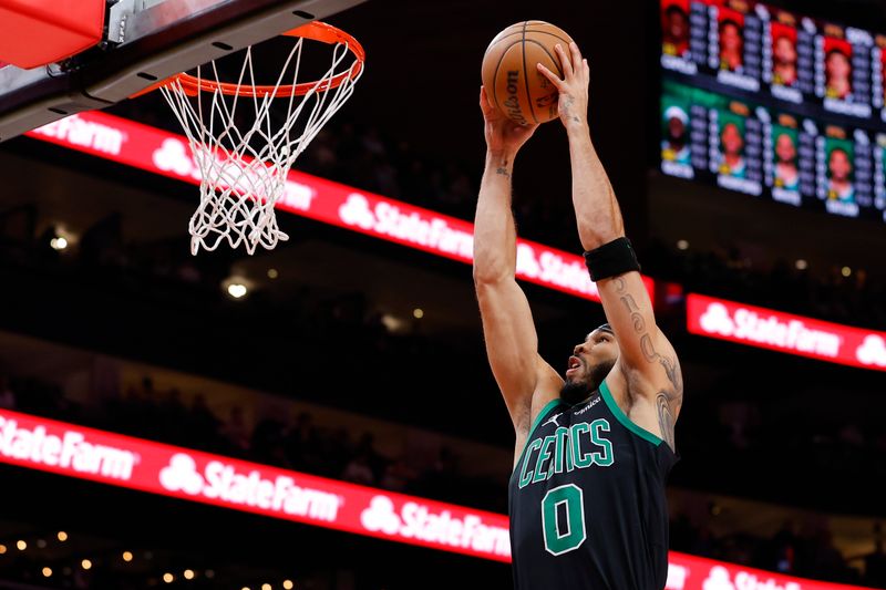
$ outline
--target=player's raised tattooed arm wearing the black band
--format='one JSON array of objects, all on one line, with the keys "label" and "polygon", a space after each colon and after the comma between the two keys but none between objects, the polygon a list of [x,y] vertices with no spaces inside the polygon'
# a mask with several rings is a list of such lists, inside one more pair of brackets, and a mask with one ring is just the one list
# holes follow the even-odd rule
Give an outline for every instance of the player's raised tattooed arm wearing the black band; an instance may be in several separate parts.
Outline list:
[{"label": "player's raised tattooed arm wearing the black band", "polygon": [[[626,396],[640,396],[649,407],[655,407],[661,435],[673,447],[673,423],[683,395],[677,354],[656,324],[639,265],[625,238],[621,210],[590,141],[588,62],[575,43],[557,45],[556,51],[563,64],[563,80],[544,66],[538,69],[559,92],[560,121],[569,137],[578,232],[588,269],[618,341],[616,371],[620,369],[624,375]],[[621,379],[618,374],[612,377],[615,382]]]}]

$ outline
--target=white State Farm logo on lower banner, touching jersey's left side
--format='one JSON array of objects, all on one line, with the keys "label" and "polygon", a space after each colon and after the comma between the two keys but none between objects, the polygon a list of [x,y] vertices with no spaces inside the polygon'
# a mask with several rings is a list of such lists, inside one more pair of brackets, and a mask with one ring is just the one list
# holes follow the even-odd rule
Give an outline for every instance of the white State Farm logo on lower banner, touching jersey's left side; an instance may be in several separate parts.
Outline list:
[{"label": "white State Farm logo on lower banner, touching jersey's left side", "polygon": [[472,514],[464,518],[452,516],[450,510],[435,514],[415,501],[404,503],[398,514],[391,498],[375,496],[360,514],[360,522],[370,532],[447,545],[481,553],[511,555],[511,538],[506,528],[484,525],[480,516]]}]

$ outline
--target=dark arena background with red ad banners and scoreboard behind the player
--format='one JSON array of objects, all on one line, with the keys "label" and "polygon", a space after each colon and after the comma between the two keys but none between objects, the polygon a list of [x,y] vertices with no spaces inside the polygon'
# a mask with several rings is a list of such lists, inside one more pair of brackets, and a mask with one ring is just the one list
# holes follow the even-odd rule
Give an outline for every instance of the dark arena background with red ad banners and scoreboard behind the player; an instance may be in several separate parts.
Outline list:
[{"label": "dark arena background with red ad banners and scoreboard behind the player", "polygon": [[[190,255],[199,178],[158,93],[0,143],[0,587],[512,586],[470,262],[480,65],[527,19],[588,58],[682,361],[668,590],[886,588],[882,0],[357,3],[323,20],[365,73],[254,256]],[[604,313],[559,122],[514,208],[565,370]]]}]

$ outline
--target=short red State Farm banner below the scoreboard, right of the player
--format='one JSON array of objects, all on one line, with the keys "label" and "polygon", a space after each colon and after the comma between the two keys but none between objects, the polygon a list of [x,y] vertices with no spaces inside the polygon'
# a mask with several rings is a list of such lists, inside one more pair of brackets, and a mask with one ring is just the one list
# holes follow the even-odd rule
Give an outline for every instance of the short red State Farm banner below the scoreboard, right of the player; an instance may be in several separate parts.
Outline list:
[{"label": "short red State Farm banner below the scoreboard, right of the player", "polygon": [[823,322],[700,294],[687,296],[687,328],[693,334],[886,371],[886,332]]}]

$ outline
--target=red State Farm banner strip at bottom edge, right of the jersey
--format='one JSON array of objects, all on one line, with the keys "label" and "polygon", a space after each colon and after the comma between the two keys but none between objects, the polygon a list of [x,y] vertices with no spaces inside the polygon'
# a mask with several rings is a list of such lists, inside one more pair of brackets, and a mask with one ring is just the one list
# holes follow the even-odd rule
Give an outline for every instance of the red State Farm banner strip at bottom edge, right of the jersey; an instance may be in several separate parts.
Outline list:
[{"label": "red State Farm banner strip at bottom edge, right of the jersey", "polygon": [[671,551],[664,590],[861,590],[816,582]]}]

